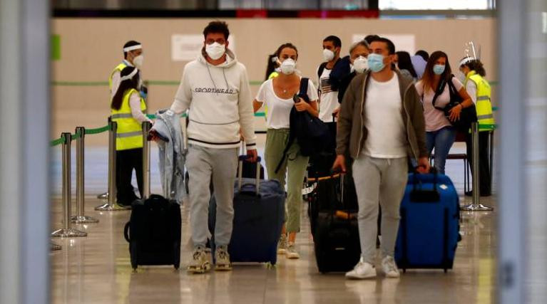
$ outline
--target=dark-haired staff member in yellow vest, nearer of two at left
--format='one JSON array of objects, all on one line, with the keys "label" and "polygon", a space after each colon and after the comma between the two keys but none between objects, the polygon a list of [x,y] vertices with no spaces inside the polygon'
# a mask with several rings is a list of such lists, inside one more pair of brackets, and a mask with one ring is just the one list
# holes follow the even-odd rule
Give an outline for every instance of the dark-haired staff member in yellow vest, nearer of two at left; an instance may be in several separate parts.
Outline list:
[{"label": "dark-haired staff member in yellow vest, nearer of two at left", "polygon": [[140,73],[128,66],[120,72],[120,85],[112,98],[111,118],[118,123],[116,132],[116,189],[118,204],[129,206],[138,199],[131,175],[135,169],[138,190],[143,196],[143,127],[142,122],[150,121],[143,114],[146,110],[144,99],[138,92]]}]

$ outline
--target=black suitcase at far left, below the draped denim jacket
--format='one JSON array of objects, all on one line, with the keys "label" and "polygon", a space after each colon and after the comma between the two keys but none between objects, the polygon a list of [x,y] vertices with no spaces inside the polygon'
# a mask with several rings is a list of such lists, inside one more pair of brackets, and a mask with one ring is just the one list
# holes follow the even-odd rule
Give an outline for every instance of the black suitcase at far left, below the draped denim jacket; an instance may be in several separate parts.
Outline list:
[{"label": "black suitcase at far left, below the draped denim jacket", "polygon": [[131,267],[180,266],[180,205],[158,194],[136,200],[123,234],[129,242]]}]

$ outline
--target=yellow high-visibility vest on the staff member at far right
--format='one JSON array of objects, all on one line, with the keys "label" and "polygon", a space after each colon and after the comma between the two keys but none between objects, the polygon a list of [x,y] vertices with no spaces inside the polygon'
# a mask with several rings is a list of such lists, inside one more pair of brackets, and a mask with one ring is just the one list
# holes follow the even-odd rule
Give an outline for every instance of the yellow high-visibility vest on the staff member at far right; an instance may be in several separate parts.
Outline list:
[{"label": "yellow high-visibility vest on the staff member at far right", "polygon": [[473,81],[476,85],[476,116],[479,119],[479,131],[494,130],[494,114],[492,113],[492,103],[490,101],[491,88],[488,81],[471,70],[466,76],[464,86],[468,81]]}]

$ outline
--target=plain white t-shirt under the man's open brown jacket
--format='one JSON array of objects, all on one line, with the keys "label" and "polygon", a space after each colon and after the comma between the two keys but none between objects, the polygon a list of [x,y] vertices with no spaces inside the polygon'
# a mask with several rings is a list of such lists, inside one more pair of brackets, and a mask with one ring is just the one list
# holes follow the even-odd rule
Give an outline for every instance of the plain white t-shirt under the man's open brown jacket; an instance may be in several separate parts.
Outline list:
[{"label": "plain white t-shirt under the man's open brown jacket", "polygon": [[367,87],[364,126],[367,140],[363,153],[369,157],[399,158],[407,156],[399,78],[380,83],[370,78]]}]

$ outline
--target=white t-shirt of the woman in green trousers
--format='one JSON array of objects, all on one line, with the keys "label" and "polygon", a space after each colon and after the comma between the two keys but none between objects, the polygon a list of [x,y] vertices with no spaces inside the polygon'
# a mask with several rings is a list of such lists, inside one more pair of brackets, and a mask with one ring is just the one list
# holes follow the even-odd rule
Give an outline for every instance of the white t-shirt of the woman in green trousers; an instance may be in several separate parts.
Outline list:
[{"label": "white t-shirt of the woman in green trousers", "polygon": [[[317,100],[317,89],[312,80],[307,84],[307,96],[310,100]],[[290,127],[290,110],[295,102],[292,98],[283,99],[275,95],[273,88],[273,79],[266,80],[260,85],[257,97],[258,102],[267,105],[267,128],[268,129],[288,129]]]}]

